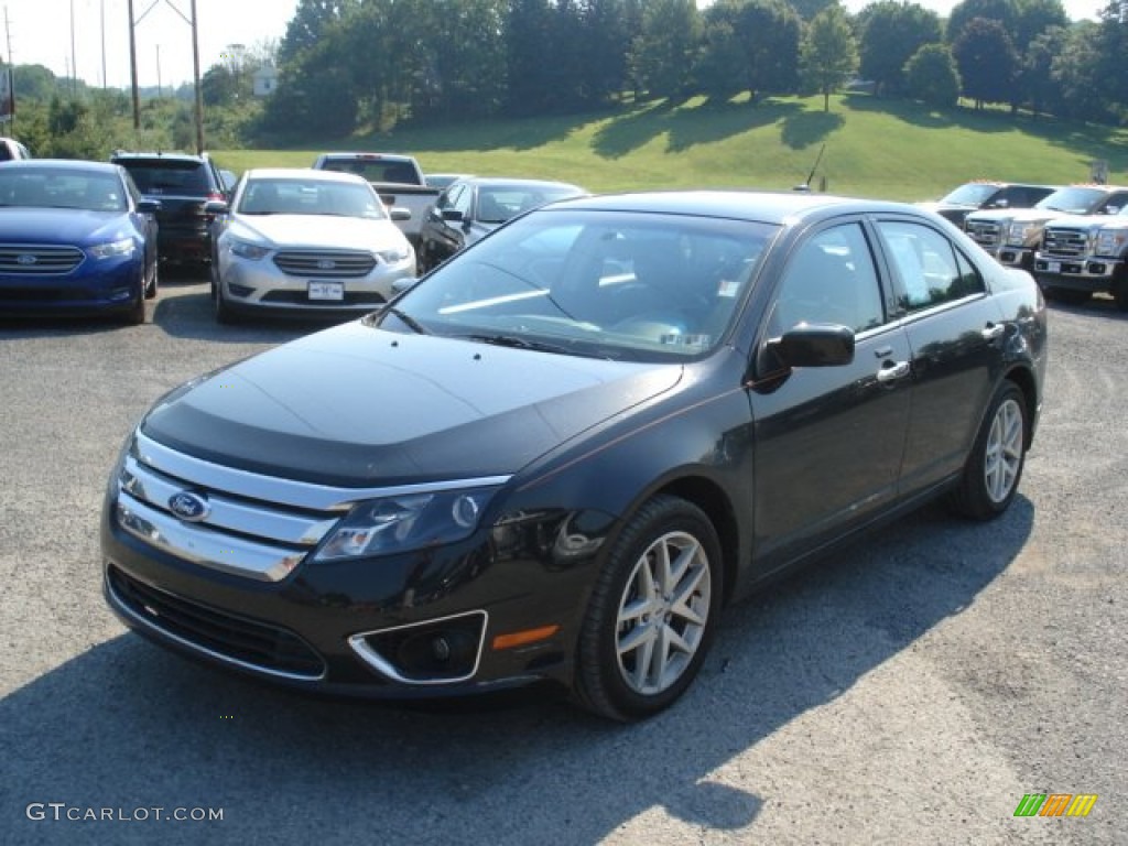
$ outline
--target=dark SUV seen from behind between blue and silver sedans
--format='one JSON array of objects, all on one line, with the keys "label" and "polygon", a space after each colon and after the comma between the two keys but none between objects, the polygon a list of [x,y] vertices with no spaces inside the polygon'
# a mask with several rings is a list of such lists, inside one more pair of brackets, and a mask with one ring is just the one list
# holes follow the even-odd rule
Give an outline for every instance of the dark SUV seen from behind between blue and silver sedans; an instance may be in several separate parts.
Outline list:
[{"label": "dark SUV seen from behind between blue and silver sedans", "polygon": [[111,156],[133,177],[147,200],[160,203],[157,250],[162,264],[205,265],[211,261],[210,200],[227,200],[227,183],[206,153],[124,152]]}]

